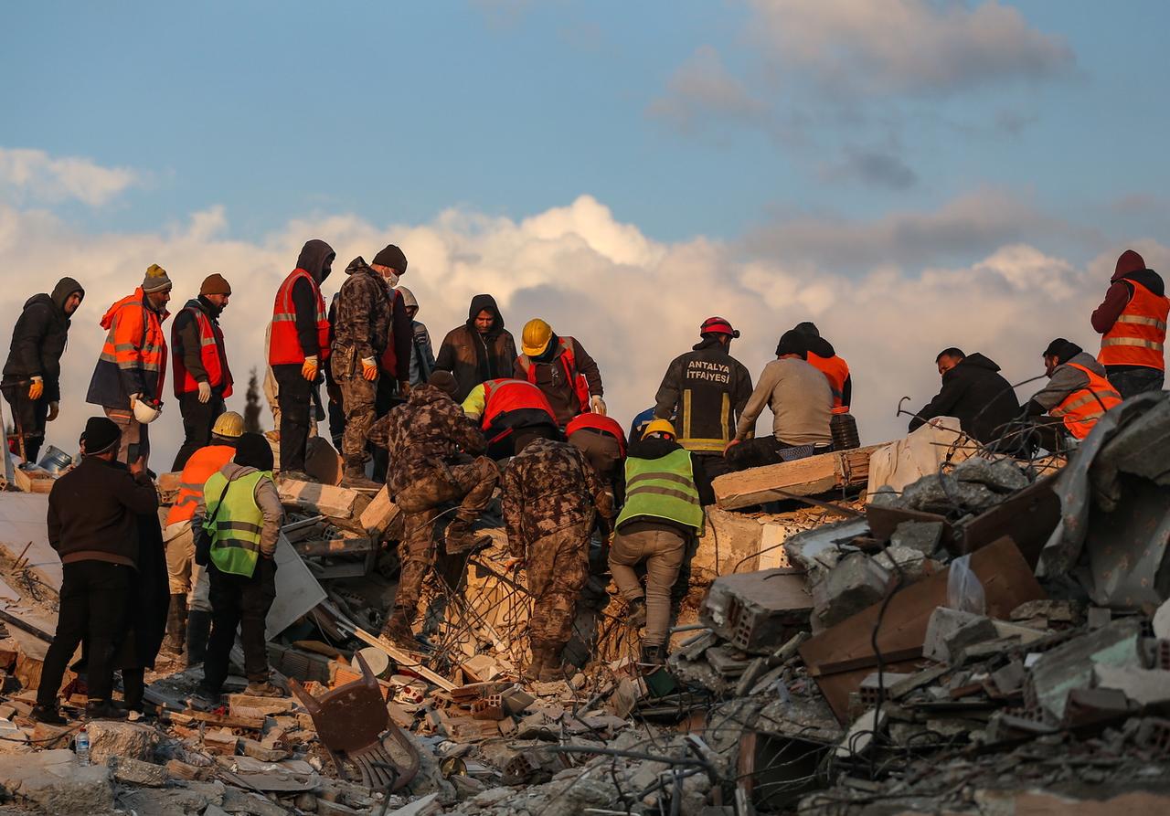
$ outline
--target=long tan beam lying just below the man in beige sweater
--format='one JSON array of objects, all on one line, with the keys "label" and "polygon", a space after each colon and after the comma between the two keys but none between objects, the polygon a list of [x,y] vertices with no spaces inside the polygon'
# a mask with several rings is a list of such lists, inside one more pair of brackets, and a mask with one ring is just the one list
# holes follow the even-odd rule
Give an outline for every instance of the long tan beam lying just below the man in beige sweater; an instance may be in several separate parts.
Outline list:
[{"label": "long tan beam lying just below the man in beige sweater", "polygon": [[715,499],[724,510],[748,507],[792,496],[817,496],[846,485],[865,484],[869,455],[883,445],[833,451],[796,462],[750,468],[711,482]]}]

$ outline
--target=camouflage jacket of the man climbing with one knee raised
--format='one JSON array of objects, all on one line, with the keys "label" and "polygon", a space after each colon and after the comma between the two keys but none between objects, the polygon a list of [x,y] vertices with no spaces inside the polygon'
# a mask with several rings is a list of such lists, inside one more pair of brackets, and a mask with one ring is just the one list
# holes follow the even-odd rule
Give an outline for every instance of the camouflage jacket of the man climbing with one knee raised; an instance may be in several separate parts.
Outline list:
[{"label": "camouflage jacket of the man climbing with one knee raised", "polygon": [[386,484],[391,496],[442,470],[460,454],[482,454],[488,443],[447,392],[434,386],[411,388],[398,406],[370,428],[370,442],[390,451]]}]

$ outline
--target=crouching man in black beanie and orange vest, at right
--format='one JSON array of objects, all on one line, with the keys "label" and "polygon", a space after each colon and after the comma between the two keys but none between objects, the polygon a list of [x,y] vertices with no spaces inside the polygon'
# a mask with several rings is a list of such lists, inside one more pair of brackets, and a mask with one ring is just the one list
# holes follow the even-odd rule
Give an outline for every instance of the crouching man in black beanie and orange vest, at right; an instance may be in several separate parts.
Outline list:
[{"label": "crouching man in black beanie and orange vest, at right", "polygon": [[[1057,454],[1068,437],[1083,440],[1096,421],[1122,400],[1104,366],[1075,343],[1057,338],[1044,350],[1048,385],[1032,395],[1025,415],[1035,422],[1039,444]],[[1048,421],[1039,419],[1047,413]]]}]

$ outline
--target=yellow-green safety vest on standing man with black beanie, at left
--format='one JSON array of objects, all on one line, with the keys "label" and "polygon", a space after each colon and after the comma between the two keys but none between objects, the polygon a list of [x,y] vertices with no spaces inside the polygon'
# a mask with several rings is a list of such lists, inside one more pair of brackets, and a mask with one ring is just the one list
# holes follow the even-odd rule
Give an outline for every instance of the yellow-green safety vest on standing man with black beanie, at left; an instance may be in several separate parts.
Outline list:
[{"label": "yellow-green safety vest on standing man with black beanie, at left", "polygon": [[[211,524],[205,519],[204,530],[212,538],[212,563],[223,573],[252,578],[260,560],[260,534],[264,528],[264,514],[256,504],[256,484],[262,478],[271,478],[271,473],[256,471],[232,480],[232,486],[223,492],[227,477],[222,471],[212,473],[204,485],[204,499],[207,502],[206,519],[214,514]],[[220,507],[219,497],[223,497]],[[219,512],[216,513],[216,507]]]}]

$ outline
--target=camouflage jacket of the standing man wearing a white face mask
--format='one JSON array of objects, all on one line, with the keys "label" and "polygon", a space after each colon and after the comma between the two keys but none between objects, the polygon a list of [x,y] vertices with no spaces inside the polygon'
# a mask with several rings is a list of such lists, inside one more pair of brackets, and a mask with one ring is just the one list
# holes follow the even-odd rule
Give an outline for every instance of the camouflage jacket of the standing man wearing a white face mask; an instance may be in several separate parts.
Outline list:
[{"label": "camouflage jacket of the standing man wearing a white face mask", "polygon": [[390,343],[394,305],[390,285],[362,257],[345,268],[333,318],[333,376],[353,376],[363,358],[379,360]]}]

